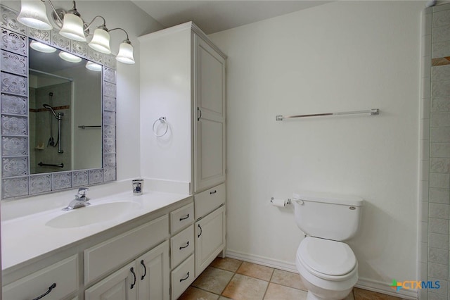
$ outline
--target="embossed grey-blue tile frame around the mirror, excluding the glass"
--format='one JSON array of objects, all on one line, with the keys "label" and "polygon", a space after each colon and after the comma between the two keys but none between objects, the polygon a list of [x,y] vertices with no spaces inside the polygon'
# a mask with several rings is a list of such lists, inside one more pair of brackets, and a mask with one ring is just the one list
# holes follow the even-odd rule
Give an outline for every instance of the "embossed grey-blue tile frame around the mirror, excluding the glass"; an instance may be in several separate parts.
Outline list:
[{"label": "embossed grey-blue tile frame around the mirror, excluding the glass", "polygon": [[[16,11],[0,5],[1,19],[1,199],[56,192],[116,180],[116,61],[56,32],[16,21]],[[103,168],[30,175],[28,120],[28,38],[103,65]]]}]

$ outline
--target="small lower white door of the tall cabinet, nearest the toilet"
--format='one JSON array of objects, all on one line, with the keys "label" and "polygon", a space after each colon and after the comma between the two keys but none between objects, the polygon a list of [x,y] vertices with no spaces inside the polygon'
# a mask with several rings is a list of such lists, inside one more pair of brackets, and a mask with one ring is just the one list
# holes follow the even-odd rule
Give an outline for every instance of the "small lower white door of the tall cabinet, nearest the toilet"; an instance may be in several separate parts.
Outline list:
[{"label": "small lower white door of the tall cabinet, nearest the toilet", "polygon": [[225,246],[225,206],[195,223],[195,276],[205,270]]}]

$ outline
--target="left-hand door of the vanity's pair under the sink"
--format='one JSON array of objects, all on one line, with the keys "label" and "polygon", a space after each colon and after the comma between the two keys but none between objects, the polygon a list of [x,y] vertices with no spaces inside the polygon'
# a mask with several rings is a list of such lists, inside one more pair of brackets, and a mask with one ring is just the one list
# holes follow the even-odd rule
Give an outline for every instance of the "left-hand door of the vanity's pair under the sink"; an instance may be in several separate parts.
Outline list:
[{"label": "left-hand door of the vanity's pair under the sink", "polygon": [[134,261],[84,292],[85,300],[136,300],[136,264]]}]

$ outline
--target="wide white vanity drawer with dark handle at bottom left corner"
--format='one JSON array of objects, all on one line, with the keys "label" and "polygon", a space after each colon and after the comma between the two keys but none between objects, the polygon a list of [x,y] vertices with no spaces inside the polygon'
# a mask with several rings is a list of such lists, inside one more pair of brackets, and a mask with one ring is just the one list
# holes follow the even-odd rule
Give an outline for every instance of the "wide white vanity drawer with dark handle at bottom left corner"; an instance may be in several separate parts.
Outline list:
[{"label": "wide white vanity drawer with dark handle at bottom left corner", "polygon": [[56,284],[45,299],[60,300],[77,291],[78,256],[70,256],[3,287],[3,299],[30,300],[41,296]]}]

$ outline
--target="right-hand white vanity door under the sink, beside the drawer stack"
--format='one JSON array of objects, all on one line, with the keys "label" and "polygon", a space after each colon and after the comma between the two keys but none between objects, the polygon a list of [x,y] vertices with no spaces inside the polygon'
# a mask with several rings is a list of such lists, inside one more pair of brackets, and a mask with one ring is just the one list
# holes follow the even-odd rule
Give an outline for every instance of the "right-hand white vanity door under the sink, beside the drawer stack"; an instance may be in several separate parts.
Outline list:
[{"label": "right-hand white vanity door under the sink, beside the drawer stack", "polygon": [[138,299],[169,299],[169,242],[166,241],[136,260]]}]

